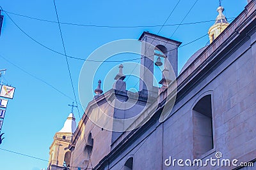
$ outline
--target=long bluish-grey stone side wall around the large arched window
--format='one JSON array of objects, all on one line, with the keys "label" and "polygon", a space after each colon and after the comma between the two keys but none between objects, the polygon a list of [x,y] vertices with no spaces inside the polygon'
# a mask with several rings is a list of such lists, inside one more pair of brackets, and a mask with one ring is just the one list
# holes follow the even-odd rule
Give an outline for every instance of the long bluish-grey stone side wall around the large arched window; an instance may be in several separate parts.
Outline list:
[{"label": "long bluish-grey stone side wall around the large arched window", "polygon": [[[163,124],[156,122],[141,134],[109,164],[109,169],[123,169],[129,157],[134,157],[134,169],[172,169],[164,166],[164,160],[170,156],[193,160],[192,108],[207,92],[212,93],[214,148],[200,158],[216,159],[216,152],[221,152],[223,159],[239,162],[256,159],[256,33],[248,36],[239,48],[222,54],[228,55],[227,59],[175,104],[168,120]],[[202,167],[205,168],[210,167]],[[175,169],[184,167],[175,166]]]}]

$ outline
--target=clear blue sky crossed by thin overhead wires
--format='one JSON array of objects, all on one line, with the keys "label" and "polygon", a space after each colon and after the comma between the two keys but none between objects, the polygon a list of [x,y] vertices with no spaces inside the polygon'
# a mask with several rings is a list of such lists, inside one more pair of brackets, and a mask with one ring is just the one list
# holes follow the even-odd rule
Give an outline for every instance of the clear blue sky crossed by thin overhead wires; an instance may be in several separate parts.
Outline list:
[{"label": "clear blue sky crossed by thin overhead wires", "polygon": [[[60,22],[111,26],[162,25],[177,1],[166,0],[157,3],[150,0],[56,0],[56,6]],[[166,24],[179,24],[194,3],[195,0],[181,0]],[[225,7],[224,14],[227,18],[231,18],[243,11],[247,1],[223,0],[222,4]],[[53,1],[13,0],[1,1],[0,5],[5,11],[56,21]],[[199,0],[183,23],[214,20],[218,15],[217,7],[217,0]],[[16,90],[13,100],[9,101],[6,110],[2,129],[5,139],[0,148],[48,160],[49,146],[54,133],[60,131],[63,126],[68,113],[70,113],[68,104],[71,104],[74,99],[66,59],[65,56],[51,52],[29,39],[4,12],[2,15],[4,15],[4,22],[0,36],[0,69],[7,69],[4,83],[13,85]],[[32,20],[10,13],[9,15],[22,30],[36,41],[63,53],[58,24]],[[181,41],[183,44],[189,43],[207,34],[212,24],[214,22],[180,25],[172,39]],[[163,27],[159,35],[170,38],[176,28],[177,26]],[[160,27],[109,28],[61,24],[61,29],[67,54],[86,59],[90,53],[105,43],[126,38],[138,39],[143,31],[156,34]],[[209,38],[205,36],[191,45],[179,48],[179,70],[189,56],[205,46],[207,41]],[[113,60],[130,58],[131,56],[128,55],[118,55]],[[83,60],[68,59],[68,63],[78,99],[77,86]],[[93,81],[94,89],[97,80],[99,78],[103,80],[104,73],[107,73],[109,67],[116,64],[120,63],[102,67],[100,72],[102,74],[97,74]],[[38,79],[49,83],[66,96]],[[88,80],[88,83],[92,83],[91,81]],[[131,87],[133,83],[134,80],[131,78],[127,81],[128,87]],[[88,101],[93,97],[92,90],[88,89],[88,92],[84,94],[88,96]],[[79,107],[79,110],[82,115],[83,108]],[[78,122],[77,110],[74,111],[74,114]],[[4,170],[18,168],[20,170],[37,170],[47,167],[47,162],[0,150],[0,165]]]}]

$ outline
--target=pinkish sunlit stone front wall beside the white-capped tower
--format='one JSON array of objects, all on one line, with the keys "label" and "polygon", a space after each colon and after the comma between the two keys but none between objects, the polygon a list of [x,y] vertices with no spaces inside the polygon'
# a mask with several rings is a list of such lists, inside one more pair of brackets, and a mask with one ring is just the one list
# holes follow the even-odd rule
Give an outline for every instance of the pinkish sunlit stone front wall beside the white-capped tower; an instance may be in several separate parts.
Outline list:
[{"label": "pinkish sunlit stone front wall beside the white-capped tower", "polygon": [[[104,103],[99,107],[92,110],[91,115],[96,115],[104,111],[104,113],[113,113],[113,108],[108,107],[108,103]],[[111,116],[111,115],[110,115]],[[88,144],[88,136],[92,133],[93,148],[92,155],[90,155],[90,161],[88,161],[88,151],[84,150],[86,144]],[[110,152],[112,134],[106,129],[101,129],[95,125],[90,119],[83,125],[81,135],[76,143],[76,147],[72,152],[71,166],[72,169],[77,169],[77,167],[91,167],[99,163],[103,157],[105,157]],[[92,162],[92,164],[91,164]]]}]

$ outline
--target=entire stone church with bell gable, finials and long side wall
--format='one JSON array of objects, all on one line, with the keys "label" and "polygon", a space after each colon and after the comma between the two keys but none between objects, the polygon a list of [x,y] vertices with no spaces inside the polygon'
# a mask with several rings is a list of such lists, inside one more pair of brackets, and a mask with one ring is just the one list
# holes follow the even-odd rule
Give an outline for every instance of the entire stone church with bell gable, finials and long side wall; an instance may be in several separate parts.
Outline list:
[{"label": "entire stone church with bell gable, finials and long side wall", "polygon": [[[176,95],[172,93],[173,83],[166,77],[161,80],[160,89],[152,85],[150,91],[140,82],[138,102],[132,108],[119,110],[113,96],[127,101],[122,71],[118,73],[121,76],[116,79],[113,89],[104,94],[99,91],[99,82],[97,97],[88,104],[68,145],[70,169],[255,169],[255,4],[255,0],[248,1],[244,11],[230,24],[224,20],[225,24],[220,25],[216,20],[215,24],[219,25],[213,25],[211,29],[216,27],[214,30],[221,32],[214,32],[213,39],[209,34],[210,45],[198,50],[179,76],[177,47],[180,42],[143,32],[140,40],[150,43],[154,38],[153,45],[163,53],[167,52],[164,55],[177,75]],[[153,61],[141,59],[141,64],[149,70],[152,69],[150,62]],[[145,81],[151,82],[151,77],[147,76]],[[174,82],[172,78],[170,81]],[[157,96],[159,102],[150,101],[152,96]],[[109,107],[108,101],[113,106]],[[169,106],[172,109],[168,110]],[[147,110],[143,110],[145,107]],[[161,119],[165,108],[168,117]],[[122,119],[136,116],[140,111],[145,114],[138,115],[134,122],[147,121],[124,132],[108,131],[89,118],[102,121],[105,113]],[[109,128],[114,129],[118,123],[110,122],[113,127]],[[124,125],[124,130],[131,125]],[[201,160],[207,162],[211,158],[237,160],[237,166],[196,166]],[[192,160],[192,165],[188,167],[183,161],[179,163],[185,167],[179,166],[179,159]],[[241,162],[252,162],[254,167],[242,167]]]}]

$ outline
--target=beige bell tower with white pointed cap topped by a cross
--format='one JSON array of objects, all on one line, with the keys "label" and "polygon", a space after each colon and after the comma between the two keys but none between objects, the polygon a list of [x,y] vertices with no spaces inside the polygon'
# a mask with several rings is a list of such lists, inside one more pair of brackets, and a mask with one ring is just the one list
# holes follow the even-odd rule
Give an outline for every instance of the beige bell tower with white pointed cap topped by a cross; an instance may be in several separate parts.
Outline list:
[{"label": "beige bell tower with white pointed cap topped by a cross", "polygon": [[68,115],[62,129],[56,132],[49,152],[48,170],[62,170],[63,165],[69,166],[71,152],[68,145],[76,131],[76,118],[73,113]]}]

